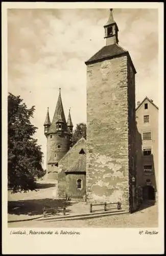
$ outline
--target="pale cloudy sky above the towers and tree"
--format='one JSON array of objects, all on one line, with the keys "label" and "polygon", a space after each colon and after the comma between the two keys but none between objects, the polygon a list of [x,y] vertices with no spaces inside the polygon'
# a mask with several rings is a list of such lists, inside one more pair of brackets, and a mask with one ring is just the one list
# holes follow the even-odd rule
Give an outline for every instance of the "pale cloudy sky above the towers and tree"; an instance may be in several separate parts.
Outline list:
[{"label": "pale cloudy sky above the towers and tree", "polygon": [[[74,127],[86,122],[85,61],[105,46],[109,9],[8,9],[8,92],[30,108],[45,156],[43,123],[52,119],[59,87]],[[158,105],[158,10],[113,9],[119,45],[128,50],[136,74],[136,101]]]}]

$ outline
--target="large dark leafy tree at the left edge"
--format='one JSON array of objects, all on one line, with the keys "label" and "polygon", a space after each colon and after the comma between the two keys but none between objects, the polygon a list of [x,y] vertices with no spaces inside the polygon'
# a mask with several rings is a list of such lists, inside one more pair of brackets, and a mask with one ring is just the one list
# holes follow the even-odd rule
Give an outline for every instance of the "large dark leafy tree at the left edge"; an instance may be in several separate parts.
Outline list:
[{"label": "large dark leafy tree at the left edge", "polygon": [[34,190],[36,178],[44,174],[41,147],[32,136],[35,107],[27,108],[20,96],[8,95],[8,186],[13,193]]}]

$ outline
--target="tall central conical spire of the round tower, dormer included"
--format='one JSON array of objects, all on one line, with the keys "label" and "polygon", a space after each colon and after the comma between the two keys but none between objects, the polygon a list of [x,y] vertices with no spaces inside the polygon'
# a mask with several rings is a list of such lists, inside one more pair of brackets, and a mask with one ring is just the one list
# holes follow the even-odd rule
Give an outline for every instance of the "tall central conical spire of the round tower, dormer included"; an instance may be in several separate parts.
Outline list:
[{"label": "tall central conical spire of the round tower, dormer included", "polygon": [[67,133],[67,124],[66,119],[64,115],[63,105],[62,105],[62,99],[61,99],[61,89],[59,89],[59,97],[55,109],[55,113],[53,116],[53,121],[50,126],[49,132],[50,133],[61,133],[66,132]]}]

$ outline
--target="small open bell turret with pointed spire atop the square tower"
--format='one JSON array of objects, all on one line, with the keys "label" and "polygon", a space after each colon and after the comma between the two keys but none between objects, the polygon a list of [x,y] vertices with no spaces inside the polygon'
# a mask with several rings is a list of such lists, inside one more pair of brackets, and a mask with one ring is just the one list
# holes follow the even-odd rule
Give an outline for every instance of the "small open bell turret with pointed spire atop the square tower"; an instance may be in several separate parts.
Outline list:
[{"label": "small open bell turret with pointed spire atop the square tower", "polygon": [[105,29],[104,38],[106,38],[106,45],[113,45],[113,44],[118,44],[118,37],[117,37],[118,27],[116,22],[113,19],[112,9],[109,9],[109,10],[110,10],[110,13],[109,13],[108,22],[106,23],[106,25],[104,25],[104,29]]}]

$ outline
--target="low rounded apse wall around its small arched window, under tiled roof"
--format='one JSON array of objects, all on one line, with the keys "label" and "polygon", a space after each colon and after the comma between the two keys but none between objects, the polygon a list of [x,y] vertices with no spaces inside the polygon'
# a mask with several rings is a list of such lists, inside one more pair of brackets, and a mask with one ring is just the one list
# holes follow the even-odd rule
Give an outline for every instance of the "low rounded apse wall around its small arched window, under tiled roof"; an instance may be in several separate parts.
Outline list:
[{"label": "low rounded apse wall around its small arched window, under tiled roof", "polygon": [[[66,194],[71,199],[81,199],[85,201],[86,174],[66,174]],[[77,188],[77,180],[82,179],[82,188]]]}]

